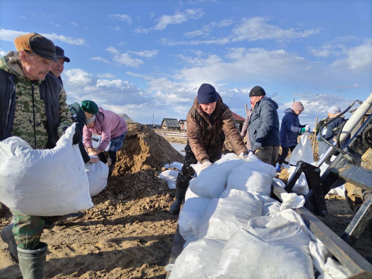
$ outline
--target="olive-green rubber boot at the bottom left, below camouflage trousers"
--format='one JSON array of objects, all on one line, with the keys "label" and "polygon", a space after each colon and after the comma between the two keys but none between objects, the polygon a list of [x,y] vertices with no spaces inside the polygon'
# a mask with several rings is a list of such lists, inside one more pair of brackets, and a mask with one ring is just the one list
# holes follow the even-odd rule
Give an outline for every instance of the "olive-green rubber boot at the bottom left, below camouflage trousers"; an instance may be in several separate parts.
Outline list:
[{"label": "olive-green rubber boot at the bottom left, below camouflage trousers", "polygon": [[47,259],[48,244],[39,243],[37,250],[24,250],[17,247],[19,269],[23,279],[43,279],[45,271],[45,261]]}]

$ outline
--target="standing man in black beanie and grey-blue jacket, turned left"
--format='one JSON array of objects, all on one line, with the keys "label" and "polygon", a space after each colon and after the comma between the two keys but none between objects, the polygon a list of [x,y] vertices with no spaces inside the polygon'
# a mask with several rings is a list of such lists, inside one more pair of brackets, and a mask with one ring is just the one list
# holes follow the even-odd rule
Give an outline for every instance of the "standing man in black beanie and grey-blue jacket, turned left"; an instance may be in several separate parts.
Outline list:
[{"label": "standing man in black beanie and grey-blue jacket, turned left", "polygon": [[266,97],[261,86],[253,87],[249,97],[254,106],[248,123],[252,150],[261,161],[275,167],[280,147],[278,104]]}]

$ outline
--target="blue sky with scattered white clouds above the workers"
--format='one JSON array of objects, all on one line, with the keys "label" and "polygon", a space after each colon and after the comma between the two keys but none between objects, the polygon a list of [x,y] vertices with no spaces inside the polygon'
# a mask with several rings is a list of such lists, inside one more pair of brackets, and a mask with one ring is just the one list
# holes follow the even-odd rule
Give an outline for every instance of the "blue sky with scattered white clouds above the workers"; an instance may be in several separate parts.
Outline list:
[{"label": "blue sky with scattered white clouds above the workers", "polygon": [[141,123],[186,119],[202,83],[243,117],[256,85],[280,119],[295,98],[311,126],[372,91],[372,1],[0,1],[0,54],[29,32],[71,59],[68,103]]}]

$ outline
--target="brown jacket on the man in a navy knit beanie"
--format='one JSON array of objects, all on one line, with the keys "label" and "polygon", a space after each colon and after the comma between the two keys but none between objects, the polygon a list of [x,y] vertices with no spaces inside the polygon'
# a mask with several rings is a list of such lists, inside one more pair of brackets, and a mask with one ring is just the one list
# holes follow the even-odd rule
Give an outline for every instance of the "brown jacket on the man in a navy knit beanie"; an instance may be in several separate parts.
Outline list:
[{"label": "brown jacket on the man in a navy knit beanie", "polygon": [[218,95],[216,108],[211,116],[206,114],[195,98],[193,106],[187,113],[187,142],[200,163],[209,160],[209,156],[222,152],[225,135],[236,154],[248,154],[241,139],[231,110]]}]

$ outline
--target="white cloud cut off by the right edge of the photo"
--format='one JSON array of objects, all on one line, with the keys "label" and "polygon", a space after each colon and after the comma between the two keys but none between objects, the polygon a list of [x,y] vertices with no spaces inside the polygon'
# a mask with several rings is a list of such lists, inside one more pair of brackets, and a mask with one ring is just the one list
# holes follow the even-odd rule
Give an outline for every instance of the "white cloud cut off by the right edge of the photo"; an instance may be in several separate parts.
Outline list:
[{"label": "white cloud cut off by the right edge of the photo", "polygon": [[331,67],[337,70],[359,71],[372,65],[372,39],[367,39],[362,45],[348,48],[346,58],[336,60]]}]

